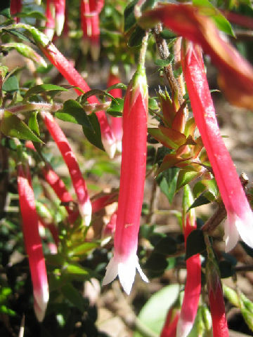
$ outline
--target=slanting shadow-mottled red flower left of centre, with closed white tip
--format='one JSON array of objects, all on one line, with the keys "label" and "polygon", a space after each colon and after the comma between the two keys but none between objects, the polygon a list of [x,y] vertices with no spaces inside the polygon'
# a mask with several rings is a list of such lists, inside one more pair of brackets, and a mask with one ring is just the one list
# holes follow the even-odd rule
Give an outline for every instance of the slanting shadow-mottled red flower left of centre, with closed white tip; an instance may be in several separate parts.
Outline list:
[{"label": "slanting shadow-mottled red flower left of centre, with closed white tip", "polygon": [[51,114],[48,112],[41,112],[41,116],[44,119],[46,128],[51,134],[53,140],[56,142],[56,145],[58,146],[58,149],[60,150],[63,159],[67,165],[67,169],[70,172],[72,184],[77,194],[79,212],[82,218],[84,218],[85,225],[88,226],[91,222],[91,201],[89,199],[85,180],[77,163],[77,158],[75,157],[74,152],[70,147],[70,143],[68,143],[68,140],[65,137],[65,134],[63,133],[60,126],[58,126],[56,121],[53,119]]}]

